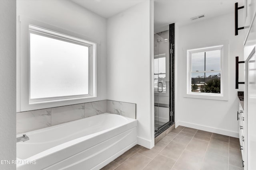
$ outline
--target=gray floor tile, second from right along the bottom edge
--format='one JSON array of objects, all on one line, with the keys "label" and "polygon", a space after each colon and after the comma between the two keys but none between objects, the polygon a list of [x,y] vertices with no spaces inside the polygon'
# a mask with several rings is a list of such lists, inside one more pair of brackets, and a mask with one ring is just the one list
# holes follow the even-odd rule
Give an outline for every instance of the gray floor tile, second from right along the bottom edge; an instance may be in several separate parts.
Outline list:
[{"label": "gray floor tile, second from right along the bottom edge", "polygon": [[228,158],[206,152],[201,170],[228,170]]}]

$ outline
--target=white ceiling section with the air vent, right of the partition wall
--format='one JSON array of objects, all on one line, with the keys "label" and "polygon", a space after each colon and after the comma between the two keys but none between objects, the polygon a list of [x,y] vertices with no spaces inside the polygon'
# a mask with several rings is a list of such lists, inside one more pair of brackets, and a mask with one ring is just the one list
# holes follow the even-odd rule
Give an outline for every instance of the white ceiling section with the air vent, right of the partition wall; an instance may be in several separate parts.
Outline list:
[{"label": "white ceiling section with the air vent, right of the partition wall", "polygon": [[[234,4],[243,6],[244,0],[155,0],[154,31],[168,30],[170,23],[186,25],[234,12]],[[205,14],[204,18],[190,18]]]}]

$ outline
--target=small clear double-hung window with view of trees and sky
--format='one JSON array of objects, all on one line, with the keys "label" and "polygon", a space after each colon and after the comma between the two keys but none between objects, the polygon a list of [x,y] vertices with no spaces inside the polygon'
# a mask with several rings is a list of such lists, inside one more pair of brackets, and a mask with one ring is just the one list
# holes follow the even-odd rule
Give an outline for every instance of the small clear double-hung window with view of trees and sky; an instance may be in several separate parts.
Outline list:
[{"label": "small clear double-hung window with view of trees and sky", "polygon": [[223,46],[188,50],[188,94],[223,94]]}]

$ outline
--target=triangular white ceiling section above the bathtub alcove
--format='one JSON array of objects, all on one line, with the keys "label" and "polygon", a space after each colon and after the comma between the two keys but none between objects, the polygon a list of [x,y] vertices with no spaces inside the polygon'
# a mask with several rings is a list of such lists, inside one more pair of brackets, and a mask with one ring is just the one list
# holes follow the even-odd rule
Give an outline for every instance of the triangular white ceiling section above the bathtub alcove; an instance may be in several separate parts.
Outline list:
[{"label": "triangular white ceiling section above the bathtub alcove", "polygon": [[102,16],[110,18],[145,0],[71,0],[76,4]]}]

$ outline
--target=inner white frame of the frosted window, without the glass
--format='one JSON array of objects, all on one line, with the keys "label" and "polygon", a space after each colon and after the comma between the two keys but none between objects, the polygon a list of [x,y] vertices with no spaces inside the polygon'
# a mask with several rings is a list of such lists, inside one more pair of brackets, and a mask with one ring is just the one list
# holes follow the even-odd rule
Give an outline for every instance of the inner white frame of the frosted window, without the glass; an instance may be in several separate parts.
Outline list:
[{"label": "inner white frame of the frosted window, without the glass", "polygon": [[[84,39],[79,39],[76,37],[72,37],[70,35],[65,35],[56,31],[51,31],[49,29],[45,29],[42,27],[38,27],[36,25],[29,24],[29,29],[28,29],[28,43],[29,43],[29,70],[28,70],[28,93],[29,93],[29,104],[41,104],[41,103],[49,103],[49,102],[59,102],[59,101],[64,101],[64,100],[75,100],[75,99],[82,99],[82,98],[88,98],[88,97],[94,97],[93,93],[93,88],[92,88],[92,60],[93,58],[96,57],[96,55],[93,55],[92,51],[95,50],[96,52],[96,43],[86,41]],[[71,96],[56,96],[56,97],[48,97],[48,98],[36,98],[36,99],[31,99],[30,97],[30,33],[36,34],[36,35],[41,35],[44,37],[52,38],[52,39],[57,39],[60,41],[65,41],[69,43],[74,43],[77,45],[82,45],[85,47],[88,47],[88,94],[81,94],[81,95],[71,95]],[[94,52],[94,54],[95,54]]]}]

